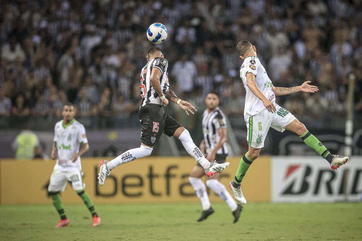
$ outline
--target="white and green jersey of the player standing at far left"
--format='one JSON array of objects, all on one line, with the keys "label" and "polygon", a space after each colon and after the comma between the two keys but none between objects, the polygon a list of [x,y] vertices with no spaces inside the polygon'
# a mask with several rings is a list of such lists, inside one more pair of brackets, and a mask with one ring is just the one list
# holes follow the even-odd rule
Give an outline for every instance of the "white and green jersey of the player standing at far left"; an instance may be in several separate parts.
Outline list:
[{"label": "white and green jersey of the player standing at far left", "polygon": [[63,124],[63,120],[56,122],[54,142],[58,147],[58,159],[54,169],[58,171],[81,170],[80,157],[75,162],[72,162],[71,158],[79,152],[81,144],[88,143],[84,125],[75,119],[67,125]]}]

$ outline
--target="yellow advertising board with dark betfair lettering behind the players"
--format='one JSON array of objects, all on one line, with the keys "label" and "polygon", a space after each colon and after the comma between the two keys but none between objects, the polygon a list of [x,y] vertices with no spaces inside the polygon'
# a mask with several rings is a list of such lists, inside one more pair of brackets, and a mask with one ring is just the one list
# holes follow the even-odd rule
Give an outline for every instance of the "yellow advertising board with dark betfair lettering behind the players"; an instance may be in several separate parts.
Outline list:
[{"label": "yellow advertising board with dark betfair lettering behind the players", "polygon": [[[115,168],[104,186],[98,184],[98,158],[83,158],[85,191],[94,203],[198,202],[188,176],[195,160],[191,157],[147,157]],[[240,157],[228,158],[230,166],[220,181],[233,180]],[[51,203],[47,185],[55,162],[0,161],[0,203]],[[204,177],[206,178],[206,177]],[[206,179],[205,179],[206,180]],[[243,180],[248,202],[270,201],[270,158],[259,157]],[[64,203],[81,203],[70,184],[61,194]],[[211,202],[222,200],[209,190]]]}]

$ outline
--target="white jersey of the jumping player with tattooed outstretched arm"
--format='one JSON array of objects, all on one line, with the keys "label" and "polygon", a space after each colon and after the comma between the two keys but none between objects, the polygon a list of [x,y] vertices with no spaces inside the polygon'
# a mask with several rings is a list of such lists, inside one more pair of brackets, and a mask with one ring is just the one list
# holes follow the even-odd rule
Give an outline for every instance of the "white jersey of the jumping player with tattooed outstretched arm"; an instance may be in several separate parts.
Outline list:
[{"label": "white jersey of the jumping player with tattooed outstretched arm", "polygon": [[256,56],[248,56],[245,58],[240,68],[240,78],[243,81],[247,92],[245,97],[244,119],[248,120],[250,116],[254,116],[265,109],[263,102],[251,92],[247,86],[247,74],[252,73],[255,76],[255,83],[260,92],[271,102],[275,103],[275,94],[271,87],[271,80],[266,73],[264,66]]}]

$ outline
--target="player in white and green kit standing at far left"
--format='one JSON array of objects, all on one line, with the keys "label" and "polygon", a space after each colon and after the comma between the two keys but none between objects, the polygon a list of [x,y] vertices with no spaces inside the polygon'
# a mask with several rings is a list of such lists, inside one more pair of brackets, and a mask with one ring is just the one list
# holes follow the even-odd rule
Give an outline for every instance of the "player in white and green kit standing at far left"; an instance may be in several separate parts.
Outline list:
[{"label": "player in white and green kit standing at far left", "polygon": [[[56,159],[54,170],[50,177],[48,193],[53,200],[53,205],[58,211],[60,220],[55,228],[69,225],[59,192],[64,191],[67,182],[72,182],[72,187],[88,207],[93,218],[93,227],[101,224],[94,205],[89,195],[84,191],[83,173],[80,156],[89,150],[85,128],[74,119],[75,110],[72,103],[67,103],[62,111],[63,120],[56,122],[54,128],[54,143],[51,158]],[[80,150],[79,147],[81,146]]]}]

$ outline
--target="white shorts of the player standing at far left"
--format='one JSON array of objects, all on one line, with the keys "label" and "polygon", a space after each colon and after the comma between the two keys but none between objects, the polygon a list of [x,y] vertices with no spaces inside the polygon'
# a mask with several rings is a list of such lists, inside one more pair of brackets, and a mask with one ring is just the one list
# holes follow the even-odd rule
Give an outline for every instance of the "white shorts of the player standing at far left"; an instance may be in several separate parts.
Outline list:
[{"label": "white shorts of the player standing at far left", "polygon": [[68,181],[72,182],[75,191],[83,190],[85,187],[82,171],[62,172],[54,169],[50,176],[48,191],[64,191]]}]

